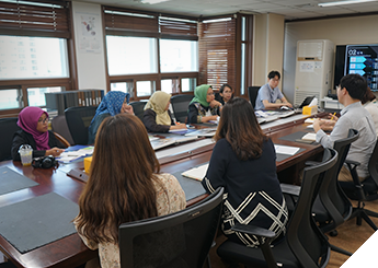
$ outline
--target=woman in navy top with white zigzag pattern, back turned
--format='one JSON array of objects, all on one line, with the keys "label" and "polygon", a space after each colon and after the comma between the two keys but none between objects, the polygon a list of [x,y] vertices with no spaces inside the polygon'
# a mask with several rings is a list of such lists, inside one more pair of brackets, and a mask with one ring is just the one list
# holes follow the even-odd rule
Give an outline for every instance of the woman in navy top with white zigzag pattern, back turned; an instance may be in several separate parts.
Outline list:
[{"label": "woman in navy top with white zigzag pattern, back turned", "polygon": [[276,237],[284,233],[288,212],[276,174],[276,152],[247,100],[234,97],[225,105],[214,139],[217,143],[202,185],[207,193],[225,187],[225,235],[257,246],[255,236],[231,228],[242,223],[270,229]]}]

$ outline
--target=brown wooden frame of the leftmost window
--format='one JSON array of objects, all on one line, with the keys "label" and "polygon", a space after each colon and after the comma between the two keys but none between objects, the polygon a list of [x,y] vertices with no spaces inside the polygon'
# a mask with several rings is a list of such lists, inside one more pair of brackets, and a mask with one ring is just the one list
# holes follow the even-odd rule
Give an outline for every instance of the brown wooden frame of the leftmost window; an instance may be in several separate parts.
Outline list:
[{"label": "brown wooden frame of the leftmost window", "polygon": [[[23,3],[9,3],[9,2],[1,2],[0,1],[0,14],[7,14],[10,18],[12,15],[16,15],[16,12],[12,14],[13,10],[19,10],[20,12],[25,12],[24,16],[26,21],[33,22],[35,16],[33,16],[33,12],[49,12],[56,13],[56,8],[54,5],[60,5],[58,18],[54,18],[54,15],[47,15],[48,18],[53,18],[55,23],[50,23],[54,25],[53,28],[44,26],[35,26],[34,24],[30,24],[31,26],[25,24],[26,26],[20,27],[16,25],[16,18],[11,22],[9,25],[2,24],[0,26],[1,35],[11,35],[11,36],[30,36],[30,37],[56,37],[56,38],[65,38],[67,42],[67,62],[68,62],[68,78],[44,78],[44,79],[9,79],[9,80],[1,80],[0,86],[0,94],[1,90],[8,89],[20,89],[22,94],[22,102],[23,107],[21,108],[11,108],[11,109],[0,109],[0,118],[3,117],[16,117],[19,113],[26,106],[28,106],[27,101],[27,89],[28,88],[48,88],[48,86],[60,86],[65,88],[66,91],[71,91],[78,89],[78,74],[76,68],[76,54],[75,54],[75,40],[73,40],[73,25],[71,22],[72,9],[70,1],[60,1],[60,0],[33,0],[35,3],[42,4],[51,4],[51,7],[44,7],[39,8],[39,5],[33,4],[23,4]],[[27,7],[26,7],[27,5]],[[47,18],[46,16],[46,18]],[[47,19],[41,19],[47,20]],[[56,21],[57,20],[57,21]],[[12,20],[10,20],[12,21]],[[59,24],[62,23],[62,24]],[[41,24],[39,24],[41,25]],[[58,25],[58,26],[57,26]],[[41,106],[42,108],[46,106]]]}]

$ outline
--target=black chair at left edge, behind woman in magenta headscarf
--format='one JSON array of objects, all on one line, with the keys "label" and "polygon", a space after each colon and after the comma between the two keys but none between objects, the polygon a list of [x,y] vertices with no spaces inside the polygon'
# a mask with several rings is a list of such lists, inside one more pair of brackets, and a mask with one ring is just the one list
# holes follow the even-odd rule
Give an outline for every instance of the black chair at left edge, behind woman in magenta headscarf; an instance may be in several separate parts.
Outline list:
[{"label": "black chair at left edge, behind woman in magenta headscarf", "polygon": [[0,119],[0,161],[12,159],[12,141],[15,131],[21,128],[18,126],[18,117],[2,118]]}]

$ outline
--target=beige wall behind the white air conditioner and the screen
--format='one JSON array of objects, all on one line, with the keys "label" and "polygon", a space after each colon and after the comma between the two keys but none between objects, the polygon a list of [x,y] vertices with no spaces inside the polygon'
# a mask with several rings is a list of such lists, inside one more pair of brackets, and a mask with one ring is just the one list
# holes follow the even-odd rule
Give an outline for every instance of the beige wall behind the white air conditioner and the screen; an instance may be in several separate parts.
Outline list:
[{"label": "beige wall behind the white air conditioner and the screen", "polygon": [[[330,39],[336,45],[377,44],[378,15],[288,22],[285,24],[283,91],[293,102],[297,42]],[[333,75],[333,74],[332,74]]]}]

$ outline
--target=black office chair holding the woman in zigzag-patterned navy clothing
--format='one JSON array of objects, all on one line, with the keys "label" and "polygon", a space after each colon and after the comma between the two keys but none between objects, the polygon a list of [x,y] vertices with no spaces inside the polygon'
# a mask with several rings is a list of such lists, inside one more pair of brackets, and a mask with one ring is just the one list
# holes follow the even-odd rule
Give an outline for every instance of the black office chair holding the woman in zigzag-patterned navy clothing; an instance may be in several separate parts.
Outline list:
[{"label": "black office chair holding the woman in zigzag-patterned navy clothing", "polygon": [[232,230],[255,235],[259,248],[226,241],[218,247],[218,255],[229,261],[242,263],[252,267],[325,267],[330,259],[330,244],[312,217],[312,205],[328,171],[336,163],[337,152],[324,149],[322,163],[305,167],[302,186],[297,206],[287,225],[286,235],[271,247],[275,233],[252,226],[236,224]]}]

